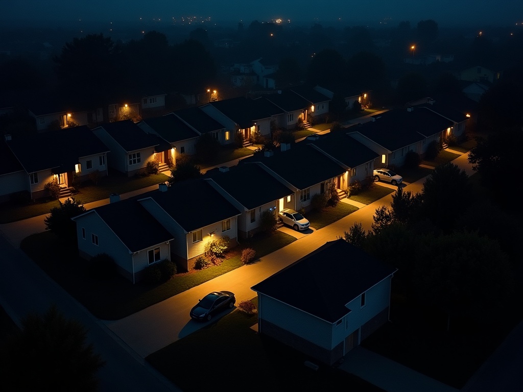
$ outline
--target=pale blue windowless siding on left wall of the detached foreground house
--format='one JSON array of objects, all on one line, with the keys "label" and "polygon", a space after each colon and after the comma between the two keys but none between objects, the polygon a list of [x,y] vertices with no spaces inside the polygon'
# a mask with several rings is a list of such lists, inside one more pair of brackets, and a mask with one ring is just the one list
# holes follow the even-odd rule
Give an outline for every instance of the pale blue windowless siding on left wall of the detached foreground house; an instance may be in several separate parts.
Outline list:
[{"label": "pale blue windowless siding on left wall of the detached foreground house", "polygon": [[[332,349],[332,324],[329,322],[263,294],[258,294],[258,314],[261,319],[321,348]],[[263,329],[260,332],[264,333]]]}]

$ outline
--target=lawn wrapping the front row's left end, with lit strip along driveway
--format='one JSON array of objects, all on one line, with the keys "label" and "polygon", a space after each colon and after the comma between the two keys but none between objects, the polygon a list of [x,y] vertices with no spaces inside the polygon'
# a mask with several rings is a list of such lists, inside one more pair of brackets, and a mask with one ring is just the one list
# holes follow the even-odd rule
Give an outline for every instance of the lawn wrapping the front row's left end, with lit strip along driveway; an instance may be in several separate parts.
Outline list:
[{"label": "lawn wrapping the front row's left end, with lit strip along driveway", "polygon": [[76,256],[76,249],[51,232],[30,235],[22,240],[20,248],[94,316],[103,320],[118,320],[242,267],[241,249],[245,247],[252,247],[256,258],[260,258],[295,240],[279,231],[270,236],[254,236],[231,249],[219,266],[179,273],[156,286],[145,283],[133,285],[120,275],[110,280],[91,279],[85,267],[86,261]]}]

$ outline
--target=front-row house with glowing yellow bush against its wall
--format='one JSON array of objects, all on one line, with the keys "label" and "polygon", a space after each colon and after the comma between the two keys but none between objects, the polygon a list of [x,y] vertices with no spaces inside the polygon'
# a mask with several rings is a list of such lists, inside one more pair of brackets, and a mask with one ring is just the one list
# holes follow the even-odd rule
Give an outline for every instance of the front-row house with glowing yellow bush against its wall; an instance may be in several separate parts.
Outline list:
[{"label": "front-row house with glowing yellow bush against its wall", "polygon": [[158,191],[138,201],[173,236],[170,260],[176,262],[178,271],[194,268],[210,241],[227,236],[231,247],[237,245],[241,212],[208,180],[161,183]]}]

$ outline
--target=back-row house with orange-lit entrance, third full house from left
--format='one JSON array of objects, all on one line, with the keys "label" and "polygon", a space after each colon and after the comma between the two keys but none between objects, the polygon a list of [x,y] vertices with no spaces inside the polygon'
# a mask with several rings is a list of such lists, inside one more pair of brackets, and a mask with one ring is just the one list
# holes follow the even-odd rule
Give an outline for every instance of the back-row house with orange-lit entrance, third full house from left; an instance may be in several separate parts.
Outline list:
[{"label": "back-row house with orange-lit entrance, third full house from left", "polygon": [[151,117],[137,124],[146,133],[160,137],[164,143],[155,147],[155,162],[160,172],[176,165],[177,154],[194,154],[200,136],[174,113]]}]

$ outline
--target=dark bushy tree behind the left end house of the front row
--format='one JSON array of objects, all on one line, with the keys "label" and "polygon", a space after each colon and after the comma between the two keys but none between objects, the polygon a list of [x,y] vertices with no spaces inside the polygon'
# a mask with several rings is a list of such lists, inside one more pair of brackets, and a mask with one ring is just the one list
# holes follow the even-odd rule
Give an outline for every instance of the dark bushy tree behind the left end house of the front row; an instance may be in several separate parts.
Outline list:
[{"label": "dark bushy tree behind the left end house of the front row", "polygon": [[76,238],[76,223],[71,218],[83,214],[86,210],[79,200],[67,198],[59,201],[60,206],[53,207],[51,214],[44,218],[46,230],[51,230],[66,239]]}]

